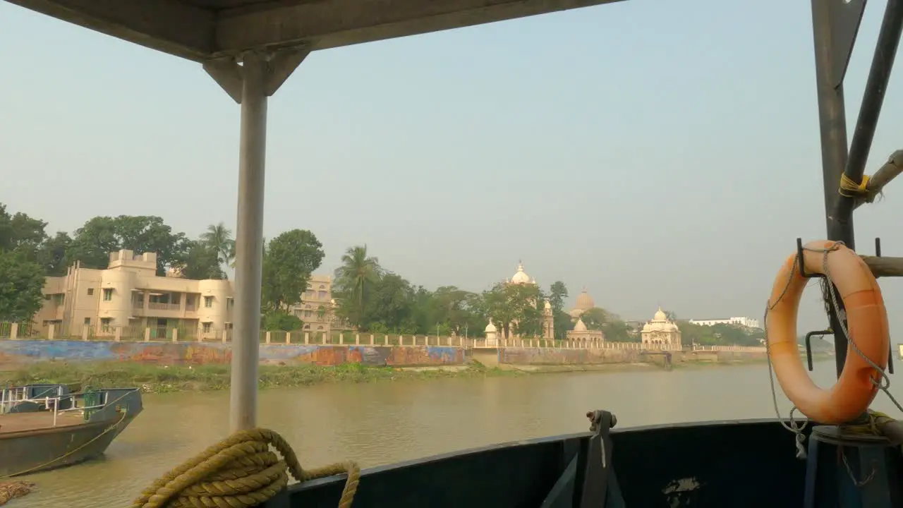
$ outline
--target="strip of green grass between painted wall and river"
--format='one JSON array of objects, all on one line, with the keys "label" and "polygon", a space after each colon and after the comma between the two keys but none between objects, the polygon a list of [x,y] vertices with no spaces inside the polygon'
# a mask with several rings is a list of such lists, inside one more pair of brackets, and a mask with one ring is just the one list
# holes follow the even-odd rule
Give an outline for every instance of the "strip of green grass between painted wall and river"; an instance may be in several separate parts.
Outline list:
[{"label": "strip of green grass between painted wall and river", "polygon": [[[257,386],[308,386],[330,382],[424,380],[451,377],[517,375],[518,372],[489,369],[470,362],[458,369],[396,369],[344,363],[319,365],[261,365]],[[88,388],[139,387],[144,392],[166,393],[188,390],[225,390],[229,386],[228,365],[161,366],[123,362],[37,362],[25,369],[0,372],[0,385],[34,383],[67,384]]]}]

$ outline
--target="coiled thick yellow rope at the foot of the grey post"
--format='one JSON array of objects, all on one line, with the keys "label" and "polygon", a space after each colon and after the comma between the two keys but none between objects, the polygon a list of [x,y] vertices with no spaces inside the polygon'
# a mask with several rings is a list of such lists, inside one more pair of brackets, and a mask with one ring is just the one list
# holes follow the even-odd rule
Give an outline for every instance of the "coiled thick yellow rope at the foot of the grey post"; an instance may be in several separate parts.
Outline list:
[{"label": "coiled thick yellow rope at the foot of the grey post", "polygon": [[[283,458],[270,449],[275,447]],[[236,432],[172,469],[144,490],[133,508],[247,508],[264,503],[288,484],[348,474],[339,508],[349,508],[358,490],[360,468],[354,462],[304,471],[292,447],[273,430]]]}]

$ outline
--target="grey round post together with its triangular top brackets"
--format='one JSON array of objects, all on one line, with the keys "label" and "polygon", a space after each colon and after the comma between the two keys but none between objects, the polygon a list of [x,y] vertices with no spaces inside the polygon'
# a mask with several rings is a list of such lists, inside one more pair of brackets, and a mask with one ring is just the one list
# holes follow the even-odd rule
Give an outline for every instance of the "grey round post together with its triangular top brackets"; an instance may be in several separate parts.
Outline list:
[{"label": "grey round post together with its triangular top brackets", "polygon": [[204,70],[241,104],[238,149],[238,217],[235,241],[235,308],[229,428],[256,427],[260,358],[260,294],[263,278],[266,102],[304,60],[303,48],[247,52],[204,62]]}]

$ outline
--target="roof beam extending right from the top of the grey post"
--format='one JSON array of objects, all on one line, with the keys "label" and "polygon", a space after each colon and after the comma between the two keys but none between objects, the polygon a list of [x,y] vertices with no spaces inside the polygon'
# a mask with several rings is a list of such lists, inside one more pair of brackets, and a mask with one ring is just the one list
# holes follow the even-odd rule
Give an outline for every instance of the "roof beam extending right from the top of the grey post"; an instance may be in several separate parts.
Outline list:
[{"label": "roof beam extending right from the top of the grey post", "polygon": [[222,11],[222,54],[308,42],[321,50],[618,0],[330,0]]}]

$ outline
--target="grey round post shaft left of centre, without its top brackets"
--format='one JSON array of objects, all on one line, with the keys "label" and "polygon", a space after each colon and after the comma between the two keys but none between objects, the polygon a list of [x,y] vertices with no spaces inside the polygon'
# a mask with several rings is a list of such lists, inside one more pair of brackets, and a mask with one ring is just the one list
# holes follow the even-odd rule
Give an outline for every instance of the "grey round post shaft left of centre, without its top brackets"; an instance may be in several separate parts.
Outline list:
[{"label": "grey round post shaft left of centre, without its top brackets", "polygon": [[263,55],[251,52],[244,55],[235,235],[235,323],[229,398],[232,432],[255,427],[257,417],[257,348],[264,249],[265,69]]}]

